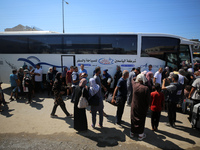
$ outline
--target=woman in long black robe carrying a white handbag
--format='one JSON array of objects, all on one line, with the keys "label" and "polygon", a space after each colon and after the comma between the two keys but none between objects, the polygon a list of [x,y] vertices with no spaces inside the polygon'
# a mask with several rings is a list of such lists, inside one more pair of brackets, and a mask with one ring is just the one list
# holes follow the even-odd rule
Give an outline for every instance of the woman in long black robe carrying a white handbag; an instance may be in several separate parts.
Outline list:
[{"label": "woman in long black robe carrying a white handbag", "polygon": [[89,93],[87,90],[87,80],[81,79],[79,86],[75,89],[75,97],[74,97],[74,129],[77,131],[86,131],[88,129],[87,126],[87,118],[85,108],[78,108],[79,99],[83,92],[83,97],[88,99]]}]

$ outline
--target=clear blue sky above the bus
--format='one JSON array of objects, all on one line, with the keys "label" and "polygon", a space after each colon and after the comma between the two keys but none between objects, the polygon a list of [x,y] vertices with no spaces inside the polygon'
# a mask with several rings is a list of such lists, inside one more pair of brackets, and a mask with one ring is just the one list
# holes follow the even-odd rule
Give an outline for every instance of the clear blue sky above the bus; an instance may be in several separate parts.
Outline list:
[{"label": "clear blue sky above the bus", "polygon": [[[167,33],[200,39],[200,0],[66,0],[65,33]],[[0,32],[22,24],[62,33],[62,0],[0,0]]]}]

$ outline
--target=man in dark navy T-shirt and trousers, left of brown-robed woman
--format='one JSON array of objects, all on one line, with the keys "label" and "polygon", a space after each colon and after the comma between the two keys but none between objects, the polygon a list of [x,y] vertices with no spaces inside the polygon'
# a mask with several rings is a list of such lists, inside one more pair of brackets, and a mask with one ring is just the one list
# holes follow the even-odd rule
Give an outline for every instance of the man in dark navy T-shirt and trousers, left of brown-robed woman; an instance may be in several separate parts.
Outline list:
[{"label": "man in dark navy T-shirt and trousers, left of brown-robed woman", "polygon": [[[127,100],[127,81],[129,77],[129,72],[127,70],[123,71],[122,77],[119,79],[117,86],[113,93],[112,102],[117,102],[117,115],[116,115],[116,125],[121,127],[122,115],[124,112],[124,106]],[[118,91],[118,92],[117,92]],[[115,95],[117,93],[116,100]]]}]

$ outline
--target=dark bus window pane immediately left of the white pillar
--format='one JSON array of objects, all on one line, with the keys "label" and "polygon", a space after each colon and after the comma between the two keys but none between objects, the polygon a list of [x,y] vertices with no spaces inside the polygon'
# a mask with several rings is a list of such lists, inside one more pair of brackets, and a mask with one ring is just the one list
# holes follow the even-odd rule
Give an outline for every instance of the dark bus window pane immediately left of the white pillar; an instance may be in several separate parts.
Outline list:
[{"label": "dark bus window pane immediately left of the white pillar", "polygon": [[137,55],[137,36],[103,35],[101,36],[101,53]]}]

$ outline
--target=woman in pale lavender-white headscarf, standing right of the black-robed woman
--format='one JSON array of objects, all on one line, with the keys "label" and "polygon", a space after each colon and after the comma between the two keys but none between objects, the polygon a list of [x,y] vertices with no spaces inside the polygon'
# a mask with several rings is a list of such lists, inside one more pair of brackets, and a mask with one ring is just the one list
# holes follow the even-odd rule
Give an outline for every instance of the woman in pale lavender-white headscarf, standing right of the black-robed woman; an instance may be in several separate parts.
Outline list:
[{"label": "woman in pale lavender-white headscarf, standing right of the black-robed woman", "polygon": [[97,111],[99,112],[99,127],[103,127],[103,100],[101,99],[101,89],[100,86],[96,83],[94,78],[90,78],[90,89],[89,89],[89,95],[94,96],[97,95],[97,101],[99,101],[98,106],[91,106],[91,113],[92,113],[92,127],[95,128],[96,124],[96,115]]}]

